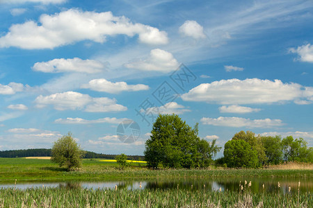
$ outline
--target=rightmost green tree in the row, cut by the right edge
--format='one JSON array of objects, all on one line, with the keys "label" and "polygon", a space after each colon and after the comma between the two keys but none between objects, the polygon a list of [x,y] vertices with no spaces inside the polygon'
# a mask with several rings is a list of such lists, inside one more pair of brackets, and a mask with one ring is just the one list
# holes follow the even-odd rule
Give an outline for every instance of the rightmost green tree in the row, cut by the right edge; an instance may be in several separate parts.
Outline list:
[{"label": "rightmost green tree in the row, cut by the right edge", "polygon": [[312,148],[307,148],[307,141],[303,138],[289,136],[282,139],[282,150],[286,162],[313,162]]}]

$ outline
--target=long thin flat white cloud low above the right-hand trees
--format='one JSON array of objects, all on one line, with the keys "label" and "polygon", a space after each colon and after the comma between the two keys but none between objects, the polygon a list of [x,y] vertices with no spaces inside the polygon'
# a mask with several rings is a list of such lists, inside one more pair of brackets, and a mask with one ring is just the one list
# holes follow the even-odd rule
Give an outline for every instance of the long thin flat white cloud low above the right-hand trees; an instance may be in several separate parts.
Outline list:
[{"label": "long thin flat white cloud low above the right-hand trees", "polygon": [[275,126],[284,125],[280,119],[245,119],[239,117],[218,117],[201,119],[203,124],[216,126],[230,126],[230,127],[246,127],[246,128],[271,128]]}]

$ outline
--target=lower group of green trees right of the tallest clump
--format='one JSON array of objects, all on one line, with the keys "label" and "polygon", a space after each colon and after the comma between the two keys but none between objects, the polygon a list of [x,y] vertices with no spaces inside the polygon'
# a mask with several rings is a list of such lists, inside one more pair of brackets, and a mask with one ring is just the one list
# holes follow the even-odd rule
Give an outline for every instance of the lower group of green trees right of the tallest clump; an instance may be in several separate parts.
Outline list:
[{"label": "lower group of green trees right of the tallest clump", "polygon": [[224,146],[224,157],[218,164],[227,167],[257,168],[282,162],[313,162],[313,148],[303,138],[294,139],[280,135],[261,136],[251,131],[241,131]]}]

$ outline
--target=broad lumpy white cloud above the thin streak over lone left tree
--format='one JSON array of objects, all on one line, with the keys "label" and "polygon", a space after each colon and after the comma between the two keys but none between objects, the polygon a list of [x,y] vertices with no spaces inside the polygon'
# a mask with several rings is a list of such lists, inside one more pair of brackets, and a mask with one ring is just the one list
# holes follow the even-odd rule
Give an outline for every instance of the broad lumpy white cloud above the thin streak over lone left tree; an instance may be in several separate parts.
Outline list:
[{"label": "broad lumpy white cloud above the thin streak over lone left tree", "polygon": [[86,112],[118,112],[125,111],[127,107],[116,103],[113,98],[93,98],[88,94],[79,92],[63,92],[49,96],[38,96],[35,99],[37,107],[53,105],[56,110],[84,110]]}]

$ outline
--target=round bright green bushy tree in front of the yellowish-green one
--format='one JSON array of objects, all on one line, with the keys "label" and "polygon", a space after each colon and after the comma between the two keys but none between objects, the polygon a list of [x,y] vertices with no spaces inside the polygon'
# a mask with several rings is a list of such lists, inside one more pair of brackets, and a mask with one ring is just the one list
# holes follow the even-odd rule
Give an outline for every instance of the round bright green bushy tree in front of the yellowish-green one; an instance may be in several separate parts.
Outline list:
[{"label": "round bright green bushy tree in front of the yellowish-green one", "polygon": [[230,168],[256,168],[258,166],[257,150],[252,149],[250,144],[243,139],[232,139],[225,144],[224,161]]}]

